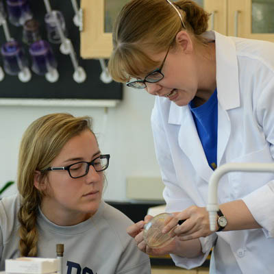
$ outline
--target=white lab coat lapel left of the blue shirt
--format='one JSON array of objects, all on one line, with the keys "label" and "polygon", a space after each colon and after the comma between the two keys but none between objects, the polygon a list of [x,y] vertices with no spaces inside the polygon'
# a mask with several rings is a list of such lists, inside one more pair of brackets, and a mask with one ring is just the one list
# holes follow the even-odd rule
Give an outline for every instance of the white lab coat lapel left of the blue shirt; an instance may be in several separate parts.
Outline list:
[{"label": "white lab coat lapel left of the blue shirt", "polygon": [[206,160],[206,155],[188,106],[178,107],[171,103],[169,123],[180,126],[178,134],[179,147],[184,151],[197,174],[208,182],[213,171],[208,165],[208,160]]}]

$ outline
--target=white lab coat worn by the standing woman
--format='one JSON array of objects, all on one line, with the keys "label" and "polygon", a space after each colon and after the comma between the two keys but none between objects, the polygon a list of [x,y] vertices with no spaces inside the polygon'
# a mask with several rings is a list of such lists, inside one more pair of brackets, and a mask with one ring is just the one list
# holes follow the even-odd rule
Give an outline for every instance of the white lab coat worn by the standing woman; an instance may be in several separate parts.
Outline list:
[{"label": "white lab coat worn by the standing woman", "polygon": [[[215,36],[216,44],[217,165],[274,162],[274,43],[216,32],[207,35]],[[188,106],[156,97],[151,125],[166,211],[206,206],[213,171]],[[177,266],[201,265],[214,246],[210,273],[273,273],[274,174],[227,173],[219,182],[219,203],[235,199],[245,201],[263,228],[200,238],[204,256],[189,259],[171,254]]]}]

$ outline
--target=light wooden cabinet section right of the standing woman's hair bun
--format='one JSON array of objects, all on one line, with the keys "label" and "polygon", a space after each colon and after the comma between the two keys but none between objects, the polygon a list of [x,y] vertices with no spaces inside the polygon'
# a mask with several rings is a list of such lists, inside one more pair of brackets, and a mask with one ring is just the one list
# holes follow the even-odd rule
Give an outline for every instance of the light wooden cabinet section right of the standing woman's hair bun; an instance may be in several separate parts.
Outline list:
[{"label": "light wooden cabinet section right of the standing woman's hair bun", "polygon": [[274,42],[274,0],[204,0],[209,29],[228,36]]}]

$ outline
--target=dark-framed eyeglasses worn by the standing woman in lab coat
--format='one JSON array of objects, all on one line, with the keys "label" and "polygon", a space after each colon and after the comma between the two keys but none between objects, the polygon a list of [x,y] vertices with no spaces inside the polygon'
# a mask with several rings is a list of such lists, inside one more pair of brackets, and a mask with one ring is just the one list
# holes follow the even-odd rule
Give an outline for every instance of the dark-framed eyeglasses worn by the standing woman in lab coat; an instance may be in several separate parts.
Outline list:
[{"label": "dark-framed eyeglasses worn by the standing woman in lab coat", "polygon": [[[170,49],[170,47],[169,47]],[[164,74],[162,73],[162,68],[164,66],[164,61],[166,60],[166,56],[169,54],[169,49],[166,51],[166,55],[164,56],[164,60],[159,69],[155,69],[151,71],[143,80],[134,80],[132,82],[128,82],[126,85],[130,86],[131,88],[147,88],[145,82],[149,83],[157,83],[164,78]]]}]

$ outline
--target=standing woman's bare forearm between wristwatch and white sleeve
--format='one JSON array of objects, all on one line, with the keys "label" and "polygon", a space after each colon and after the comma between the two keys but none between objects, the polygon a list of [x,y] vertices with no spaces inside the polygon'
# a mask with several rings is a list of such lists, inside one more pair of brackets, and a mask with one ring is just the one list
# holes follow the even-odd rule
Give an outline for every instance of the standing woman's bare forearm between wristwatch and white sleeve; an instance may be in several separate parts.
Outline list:
[{"label": "standing woman's bare forearm between wristwatch and white sleeve", "polygon": [[227,219],[223,231],[261,228],[242,200],[222,203],[220,209]]}]

